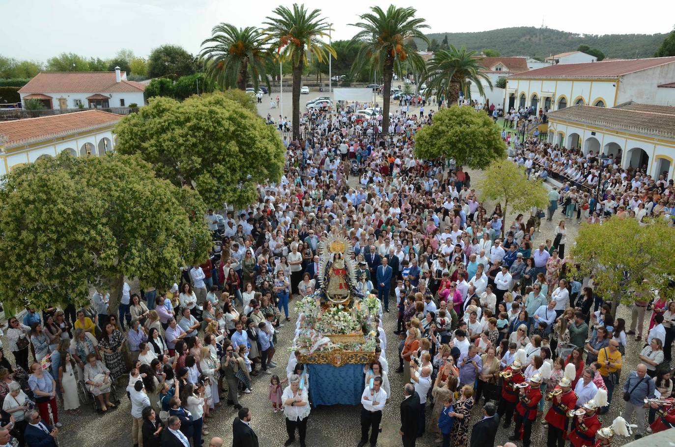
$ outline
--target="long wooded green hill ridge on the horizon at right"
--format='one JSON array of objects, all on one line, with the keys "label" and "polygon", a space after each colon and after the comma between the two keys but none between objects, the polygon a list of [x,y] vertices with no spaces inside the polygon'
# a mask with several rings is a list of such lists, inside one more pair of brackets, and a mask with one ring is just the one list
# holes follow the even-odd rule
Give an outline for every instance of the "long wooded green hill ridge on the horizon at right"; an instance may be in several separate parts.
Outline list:
[{"label": "long wooded green hill ridge on the horizon at right", "polygon": [[[429,41],[438,43],[448,36],[448,43],[455,47],[466,47],[468,50],[495,49],[504,56],[531,56],[544,58],[552,54],[574,51],[585,43],[605,53],[605,57],[634,59],[636,57],[652,57],[666,38],[663,34],[576,34],[553,30],[551,28],[535,28],[520,26],[500,28],[481,32],[437,32],[427,34]],[[419,49],[426,45],[416,40]]]}]

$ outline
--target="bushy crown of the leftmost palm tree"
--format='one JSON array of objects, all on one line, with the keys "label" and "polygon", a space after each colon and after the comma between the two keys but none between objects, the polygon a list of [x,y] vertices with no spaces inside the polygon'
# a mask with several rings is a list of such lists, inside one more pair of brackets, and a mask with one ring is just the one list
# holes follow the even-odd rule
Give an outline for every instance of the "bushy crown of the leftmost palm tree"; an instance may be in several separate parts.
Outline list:
[{"label": "bushy crown of the leftmost palm tree", "polygon": [[249,74],[253,88],[258,90],[260,78],[265,75],[265,61],[268,51],[263,43],[264,36],[253,26],[236,28],[227,23],[213,27],[211,38],[202,42],[209,45],[200,55],[205,57],[206,74],[209,80],[224,88],[246,90]]}]

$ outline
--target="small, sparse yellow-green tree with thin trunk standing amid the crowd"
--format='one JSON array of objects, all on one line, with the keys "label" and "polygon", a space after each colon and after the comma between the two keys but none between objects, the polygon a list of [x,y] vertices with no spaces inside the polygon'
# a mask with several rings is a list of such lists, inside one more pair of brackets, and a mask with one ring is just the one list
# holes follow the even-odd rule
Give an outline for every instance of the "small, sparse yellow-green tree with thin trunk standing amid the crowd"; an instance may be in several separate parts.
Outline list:
[{"label": "small, sparse yellow-green tree with thin trunk standing amid the crowd", "polygon": [[[525,170],[505,158],[490,163],[477,188],[481,191],[483,200],[492,199],[504,203],[504,216],[509,206],[513,211],[524,212],[532,207],[544,208],[548,203],[547,190],[541,179],[527,180]],[[502,225],[502,236],[505,227],[506,225]]]}]

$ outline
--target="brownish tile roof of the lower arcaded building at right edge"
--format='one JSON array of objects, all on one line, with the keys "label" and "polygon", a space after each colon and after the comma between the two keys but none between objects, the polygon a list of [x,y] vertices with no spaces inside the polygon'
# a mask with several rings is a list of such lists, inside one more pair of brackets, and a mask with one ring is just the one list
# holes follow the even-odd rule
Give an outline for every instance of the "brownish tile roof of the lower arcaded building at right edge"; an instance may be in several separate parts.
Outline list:
[{"label": "brownish tile roof of the lower arcaded building at right edge", "polygon": [[[659,112],[649,111],[650,107],[658,107]],[[630,107],[607,109],[591,105],[574,105],[552,111],[548,117],[553,122],[560,119],[675,139],[675,107],[634,104],[633,109]]]}]

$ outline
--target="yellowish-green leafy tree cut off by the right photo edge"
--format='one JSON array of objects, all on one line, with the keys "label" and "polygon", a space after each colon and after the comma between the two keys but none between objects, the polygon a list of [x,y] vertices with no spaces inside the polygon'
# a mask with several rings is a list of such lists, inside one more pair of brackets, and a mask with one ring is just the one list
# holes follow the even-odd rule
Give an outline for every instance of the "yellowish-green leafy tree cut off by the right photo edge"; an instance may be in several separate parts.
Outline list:
[{"label": "yellowish-green leafy tree cut off by the right photo edge", "polygon": [[612,300],[614,309],[618,303],[632,305],[650,290],[664,290],[675,278],[675,230],[666,219],[647,225],[617,217],[584,223],[575,242],[569,255],[575,273],[593,278],[595,292]]}]

